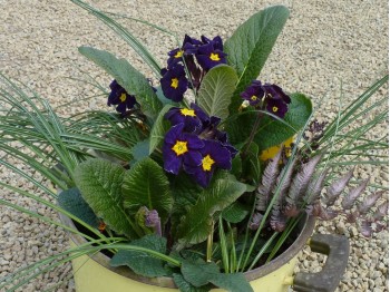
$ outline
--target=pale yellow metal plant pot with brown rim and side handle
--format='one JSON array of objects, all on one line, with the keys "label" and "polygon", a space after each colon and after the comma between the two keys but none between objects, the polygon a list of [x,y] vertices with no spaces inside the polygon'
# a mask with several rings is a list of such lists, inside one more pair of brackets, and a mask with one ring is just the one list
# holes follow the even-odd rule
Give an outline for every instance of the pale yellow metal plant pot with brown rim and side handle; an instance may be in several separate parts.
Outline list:
[{"label": "pale yellow metal plant pot with brown rim and side handle", "polygon": [[[60,215],[61,221],[76,228],[72,221],[68,217]],[[296,234],[296,240],[294,243],[285,250],[281,255],[271,261],[270,263],[254,269],[244,273],[246,280],[251,283],[254,291],[261,292],[285,292],[289,290],[290,285],[294,285],[298,291],[320,291],[308,289],[310,285],[315,285],[321,283],[325,289],[321,291],[333,291],[340,282],[342,273],[347,266],[349,245],[347,239],[341,239],[343,246],[340,246],[340,242],[331,244],[329,242],[324,243],[324,240],[311,240],[314,252],[324,253],[328,257],[333,257],[333,264],[329,264],[323,269],[324,273],[306,274],[300,273],[298,276],[293,278],[293,270],[298,261],[299,252],[309,242],[312,232],[314,230],[314,218],[306,217],[300,224],[300,234]],[[79,235],[70,234],[71,245],[77,246],[84,244],[86,241]],[[334,235],[314,235],[314,236],[334,236]],[[328,239],[328,237],[326,237]],[[329,239],[328,239],[329,240]],[[325,240],[325,241],[328,241]],[[331,240],[334,240],[331,237]],[[340,239],[335,239],[340,240]],[[347,242],[347,243],[345,243]],[[94,255],[82,255],[72,261],[74,266],[74,278],[76,283],[77,292],[169,292],[178,291],[175,283],[170,278],[154,278],[148,279],[139,276],[133,273],[126,266],[113,267],[109,265],[109,257],[103,253],[97,253]],[[329,267],[329,269],[328,269]],[[325,271],[325,270],[332,271]],[[306,280],[306,278],[314,275],[312,280]],[[309,279],[308,278],[308,279]],[[324,280],[325,279],[325,280]],[[308,282],[309,281],[309,282]],[[332,281],[321,282],[321,281]],[[302,290],[300,290],[302,288]],[[223,291],[221,289],[213,289],[212,291]]]}]

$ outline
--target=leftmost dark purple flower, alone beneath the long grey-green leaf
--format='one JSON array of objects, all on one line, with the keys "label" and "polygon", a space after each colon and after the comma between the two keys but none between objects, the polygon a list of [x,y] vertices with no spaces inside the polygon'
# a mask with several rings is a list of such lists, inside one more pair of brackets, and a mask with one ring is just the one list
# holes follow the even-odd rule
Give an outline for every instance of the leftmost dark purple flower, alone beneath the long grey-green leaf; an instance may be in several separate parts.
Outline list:
[{"label": "leftmost dark purple flower, alone beneath the long grey-green leaf", "polygon": [[108,96],[107,106],[117,106],[116,110],[123,116],[126,114],[126,109],[130,109],[136,105],[136,98],[127,94],[125,88],[123,88],[117,80],[113,80],[109,88],[111,93]]}]

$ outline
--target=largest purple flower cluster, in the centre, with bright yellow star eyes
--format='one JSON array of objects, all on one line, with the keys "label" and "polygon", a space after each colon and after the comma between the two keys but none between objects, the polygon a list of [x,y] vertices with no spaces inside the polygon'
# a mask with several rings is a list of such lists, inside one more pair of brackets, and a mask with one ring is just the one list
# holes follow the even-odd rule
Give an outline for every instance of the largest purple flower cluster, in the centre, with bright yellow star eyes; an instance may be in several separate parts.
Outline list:
[{"label": "largest purple flower cluster, in the centre, with bright yellow star eyes", "polygon": [[228,143],[226,133],[217,129],[218,117],[208,117],[195,104],[191,108],[174,107],[165,117],[172,124],[163,146],[166,172],[177,175],[183,167],[206,187],[217,167],[232,168],[237,150]]}]

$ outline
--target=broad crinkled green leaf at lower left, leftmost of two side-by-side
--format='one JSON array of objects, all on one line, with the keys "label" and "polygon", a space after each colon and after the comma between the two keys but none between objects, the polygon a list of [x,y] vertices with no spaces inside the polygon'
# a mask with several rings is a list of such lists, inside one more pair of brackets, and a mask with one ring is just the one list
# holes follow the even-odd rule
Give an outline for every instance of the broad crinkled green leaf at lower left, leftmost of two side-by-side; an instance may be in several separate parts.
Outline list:
[{"label": "broad crinkled green leaf at lower left, leftmost of two side-by-side", "polygon": [[89,159],[75,169],[76,185],[95,214],[118,234],[137,237],[138,227],[125,212],[120,185],[125,169],[103,159]]}]

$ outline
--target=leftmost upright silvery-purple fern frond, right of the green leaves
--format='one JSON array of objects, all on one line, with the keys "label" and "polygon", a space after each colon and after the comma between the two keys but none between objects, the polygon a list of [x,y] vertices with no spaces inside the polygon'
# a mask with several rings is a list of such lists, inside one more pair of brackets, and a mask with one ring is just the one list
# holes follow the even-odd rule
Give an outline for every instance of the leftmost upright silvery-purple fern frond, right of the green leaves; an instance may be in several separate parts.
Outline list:
[{"label": "leftmost upright silvery-purple fern frond, right of the green leaves", "polygon": [[275,157],[271,159],[271,162],[266,165],[263,177],[262,185],[257,188],[256,194],[256,210],[265,211],[267,208],[267,204],[270,201],[271,191],[274,188],[277,175],[279,175],[279,162],[282,156],[283,147],[277,152]]}]

